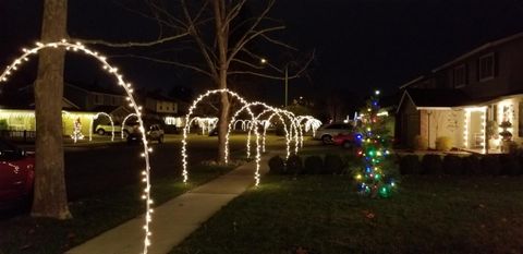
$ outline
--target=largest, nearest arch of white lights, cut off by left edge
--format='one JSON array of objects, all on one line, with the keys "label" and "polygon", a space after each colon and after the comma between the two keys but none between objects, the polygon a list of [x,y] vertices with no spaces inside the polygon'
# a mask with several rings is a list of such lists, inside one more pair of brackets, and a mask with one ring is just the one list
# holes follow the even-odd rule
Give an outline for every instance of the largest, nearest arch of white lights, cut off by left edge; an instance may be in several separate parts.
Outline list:
[{"label": "largest, nearest arch of white lights, cut off by left edge", "polygon": [[[23,53],[21,57],[16,58],[10,65],[7,66],[7,69],[0,74],[0,83],[1,82],[7,82],[8,77],[14,73],[20,65],[22,65],[24,62],[28,61],[32,56],[38,55],[38,52],[42,49],[46,48],[63,48],[65,50],[72,50],[74,52],[82,52],[86,56],[93,57],[94,59],[98,60],[101,63],[101,66],[104,70],[108,71],[110,74],[112,74],[115,80],[118,81],[118,84],[123,87],[125,90],[127,97],[126,99],[130,101],[130,106],[134,109],[138,117],[138,123],[139,123],[139,131],[142,134],[145,136],[145,129],[144,129],[144,122],[142,121],[142,107],[137,106],[135,99],[133,98],[133,88],[131,83],[126,83],[123,80],[123,75],[118,72],[118,69],[111,65],[108,61],[107,58],[99,55],[98,52],[86,48],[84,45],[81,43],[69,43],[65,39],[62,39],[61,41],[56,41],[56,43],[36,43],[36,47],[31,48],[31,49],[23,49]],[[150,166],[149,166],[149,153],[153,152],[147,145],[146,138],[142,138],[142,143],[144,146],[144,153],[142,153],[142,157],[145,160],[145,169],[142,171],[143,176],[143,182],[144,182],[144,192],[142,195],[142,198],[145,199],[146,202],[146,211],[145,211],[145,223],[144,223],[144,230],[145,230],[145,237],[144,237],[144,249],[143,253],[147,254],[148,247],[150,245],[150,235],[151,232],[149,231],[149,225],[151,222],[151,214],[153,214],[153,198],[150,197]]]}]

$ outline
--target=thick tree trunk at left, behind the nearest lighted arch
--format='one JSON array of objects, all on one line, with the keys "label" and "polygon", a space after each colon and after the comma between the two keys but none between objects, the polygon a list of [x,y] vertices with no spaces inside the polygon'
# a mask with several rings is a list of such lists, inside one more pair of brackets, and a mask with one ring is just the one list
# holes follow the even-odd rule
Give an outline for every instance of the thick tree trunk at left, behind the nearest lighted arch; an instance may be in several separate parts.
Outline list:
[{"label": "thick tree trunk at left, behind the nearest lighted arch", "polygon": [[[66,37],[66,0],[45,0],[41,41]],[[40,51],[35,82],[36,170],[32,216],[71,218],[64,179],[62,96],[65,50]]]}]

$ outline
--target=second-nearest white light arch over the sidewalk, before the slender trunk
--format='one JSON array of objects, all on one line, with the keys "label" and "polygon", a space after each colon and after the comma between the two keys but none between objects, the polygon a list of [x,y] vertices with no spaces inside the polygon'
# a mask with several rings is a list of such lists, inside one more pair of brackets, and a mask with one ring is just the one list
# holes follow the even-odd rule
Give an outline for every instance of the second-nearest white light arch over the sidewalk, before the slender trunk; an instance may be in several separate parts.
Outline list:
[{"label": "second-nearest white light arch over the sidewalk, before the slender trunk", "polygon": [[[212,96],[212,95],[217,95],[217,94],[222,94],[222,93],[227,93],[228,95],[236,98],[242,105],[248,105],[248,102],[242,98],[239,94],[232,92],[232,90],[229,90],[227,88],[223,88],[223,89],[214,89],[214,90],[207,90],[206,93],[199,95],[192,104],[192,106],[188,108],[188,112],[187,114],[185,116],[185,122],[187,124],[185,124],[185,126],[183,128],[183,138],[182,138],[182,168],[183,168],[183,171],[182,171],[182,174],[183,174],[183,182],[187,182],[188,180],[188,172],[187,172],[187,134],[188,134],[188,131],[191,129],[191,116],[193,114],[193,111],[196,109],[196,107],[199,105],[199,102],[209,97],[209,96]],[[255,119],[255,116],[254,113],[251,111],[250,108],[246,109],[248,114],[251,116],[252,119]],[[226,143],[228,144],[229,141],[226,140]],[[256,159],[255,159],[255,162],[256,162],[256,171],[255,171],[255,174],[254,174],[254,179],[256,181],[256,185],[259,184],[259,160],[260,160],[260,150],[259,150],[259,134],[257,134],[257,126],[256,126]],[[229,162],[229,147],[226,146],[226,164]]]}]

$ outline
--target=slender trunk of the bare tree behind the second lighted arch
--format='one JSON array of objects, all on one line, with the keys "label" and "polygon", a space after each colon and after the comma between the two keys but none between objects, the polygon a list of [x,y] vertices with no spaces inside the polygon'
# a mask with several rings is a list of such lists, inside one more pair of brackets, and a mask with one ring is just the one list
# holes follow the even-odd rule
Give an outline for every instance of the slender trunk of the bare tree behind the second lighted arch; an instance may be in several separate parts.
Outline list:
[{"label": "slender trunk of the bare tree behind the second lighted arch", "polygon": [[[218,87],[220,89],[227,88],[227,72],[228,72],[228,40],[229,40],[229,24],[224,22],[226,5],[222,0],[212,1],[212,10],[215,12],[216,38],[218,41]],[[222,93],[220,97],[220,118],[218,121],[218,162],[226,162],[226,135],[229,126],[229,110],[230,102],[227,93]]]}]

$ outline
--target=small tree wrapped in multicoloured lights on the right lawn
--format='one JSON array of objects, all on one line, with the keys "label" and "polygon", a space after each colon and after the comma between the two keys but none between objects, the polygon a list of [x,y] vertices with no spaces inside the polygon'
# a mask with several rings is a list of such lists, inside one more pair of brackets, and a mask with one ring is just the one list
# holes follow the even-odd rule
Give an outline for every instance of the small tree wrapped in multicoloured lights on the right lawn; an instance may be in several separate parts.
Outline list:
[{"label": "small tree wrapped in multicoloured lights on the right lawn", "polygon": [[389,155],[391,137],[386,128],[387,114],[381,114],[379,109],[379,90],[367,101],[361,114],[360,134],[357,138],[361,149],[357,155],[362,157],[363,167],[355,178],[358,181],[357,192],[370,197],[388,197],[394,186],[393,179],[388,176],[389,169],[385,167],[385,159]]}]

